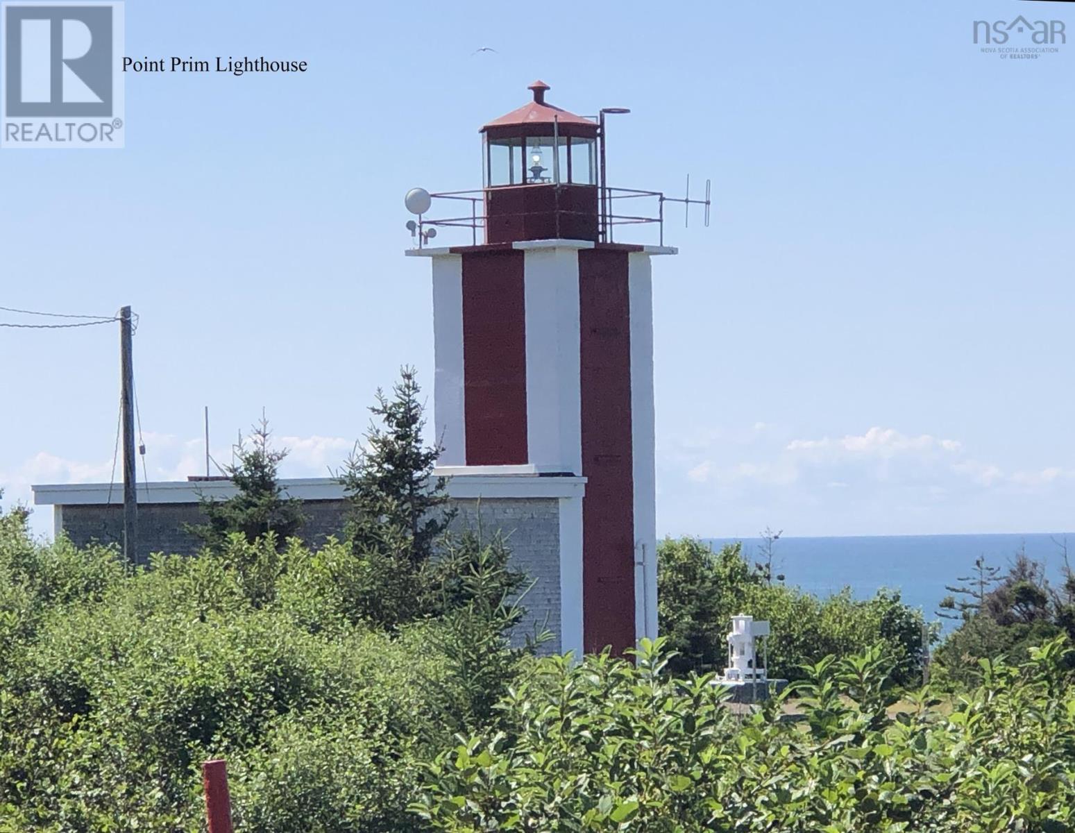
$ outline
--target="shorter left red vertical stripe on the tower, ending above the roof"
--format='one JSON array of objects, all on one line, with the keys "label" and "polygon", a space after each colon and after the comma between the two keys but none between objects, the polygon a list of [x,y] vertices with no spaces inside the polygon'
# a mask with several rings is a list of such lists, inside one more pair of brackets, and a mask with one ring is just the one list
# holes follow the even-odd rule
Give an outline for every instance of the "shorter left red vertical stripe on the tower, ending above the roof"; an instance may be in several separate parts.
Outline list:
[{"label": "shorter left red vertical stripe on the tower, ending above the roof", "polygon": [[468,465],[527,459],[524,253],[463,256],[463,408]]}]

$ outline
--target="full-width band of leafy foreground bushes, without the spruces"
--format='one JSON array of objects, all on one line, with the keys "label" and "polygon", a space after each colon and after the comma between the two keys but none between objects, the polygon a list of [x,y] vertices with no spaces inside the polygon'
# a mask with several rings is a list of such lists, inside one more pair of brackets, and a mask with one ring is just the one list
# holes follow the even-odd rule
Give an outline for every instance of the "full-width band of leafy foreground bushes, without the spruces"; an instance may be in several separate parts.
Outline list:
[{"label": "full-width band of leafy foreground bushes, without the spruces", "polygon": [[522,577],[500,541],[456,538],[434,561],[439,612],[390,632],[340,580],[361,558],[233,533],[130,572],[4,516],[0,831],[192,833],[198,764],[216,756],[238,829],[267,833],[1075,823],[1063,637],[1022,667],[984,661],[944,701],[897,702],[888,645],[825,657],[744,715],[712,676],[673,673],[663,641],[636,664],[508,647]]}]

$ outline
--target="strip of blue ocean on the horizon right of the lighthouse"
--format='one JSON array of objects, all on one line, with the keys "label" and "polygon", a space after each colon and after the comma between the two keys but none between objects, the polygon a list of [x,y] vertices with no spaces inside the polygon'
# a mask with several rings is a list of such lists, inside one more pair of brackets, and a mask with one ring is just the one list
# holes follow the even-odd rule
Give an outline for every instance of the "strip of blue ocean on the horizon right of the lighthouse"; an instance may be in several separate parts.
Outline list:
[{"label": "strip of blue ocean on the horizon right of the lighthouse", "polygon": [[[945,585],[962,584],[957,578],[972,574],[978,556],[1006,569],[1024,547],[1030,558],[1045,564],[1047,577],[1056,584],[1063,572],[1057,542],[1065,538],[1075,568],[1075,533],[782,537],[773,545],[773,573],[783,573],[785,584],[816,595],[850,587],[856,598],[869,599],[878,588],[898,589],[906,604],[921,608],[932,621],[937,618],[937,603],[948,594]],[[706,541],[714,549],[742,541],[747,560],[760,560],[761,538]]]}]

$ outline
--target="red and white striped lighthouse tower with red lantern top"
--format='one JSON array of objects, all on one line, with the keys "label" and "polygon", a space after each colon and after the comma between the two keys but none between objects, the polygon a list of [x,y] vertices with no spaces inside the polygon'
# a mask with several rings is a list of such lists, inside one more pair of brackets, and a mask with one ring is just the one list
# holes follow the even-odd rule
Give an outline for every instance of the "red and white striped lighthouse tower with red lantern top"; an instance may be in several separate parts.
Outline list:
[{"label": "red and white striped lighthouse tower with red lantern top", "polygon": [[[412,226],[408,254],[433,267],[440,464],[534,489],[585,478],[578,517],[560,519],[561,646],[620,652],[657,634],[650,257],[675,249],[612,242],[610,111],[584,118],[530,89],[482,128],[482,191],[432,195],[470,216]],[[429,203],[408,195],[415,213]],[[427,245],[459,226],[471,245]]]}]

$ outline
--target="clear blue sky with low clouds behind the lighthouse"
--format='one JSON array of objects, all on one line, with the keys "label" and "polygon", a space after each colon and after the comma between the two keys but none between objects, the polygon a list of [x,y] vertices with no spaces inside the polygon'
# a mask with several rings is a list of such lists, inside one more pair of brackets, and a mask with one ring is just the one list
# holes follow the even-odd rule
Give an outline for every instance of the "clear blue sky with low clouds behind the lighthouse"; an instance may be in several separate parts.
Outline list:
[{"label": "clear blue sky with low clouds behind the lighthouse", "polygon": [[[1072,529],[1075,42],[971,41],[1020,13],[1075,38],[1016,0],[128,0],[132,57],[310,71],[129,74],[126,149],[0,153],[0,305],[134,307],[150,479],[198,473],[205,404],[218,459],[264,406],[285,473],[322,474],[401,363],[431,394],[403,193],[478,187],[477,128],[541,77],[632,109],[610,184],[713,179],[655,269],[662,534]],[[115,330],[0,351],[5,502],[108,482]]]}]

